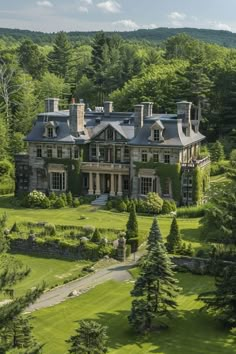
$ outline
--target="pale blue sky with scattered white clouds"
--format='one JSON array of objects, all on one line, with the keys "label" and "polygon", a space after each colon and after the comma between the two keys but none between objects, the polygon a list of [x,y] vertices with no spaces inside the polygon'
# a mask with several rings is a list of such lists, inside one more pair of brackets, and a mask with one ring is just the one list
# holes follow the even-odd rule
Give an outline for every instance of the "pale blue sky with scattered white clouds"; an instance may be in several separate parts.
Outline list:
[{"label": "pale blue sky with scattered white clouds", "polygon": [[194,27],[236,32],[236,0],[0,0],[0,27],[42,32]]}]

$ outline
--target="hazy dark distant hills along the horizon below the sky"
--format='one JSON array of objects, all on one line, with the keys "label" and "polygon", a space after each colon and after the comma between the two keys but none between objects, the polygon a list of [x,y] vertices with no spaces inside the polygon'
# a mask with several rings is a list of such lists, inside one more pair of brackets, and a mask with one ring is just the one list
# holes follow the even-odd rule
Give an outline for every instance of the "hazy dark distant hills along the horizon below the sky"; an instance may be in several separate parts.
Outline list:
[{"label": "hazy dark distant hills along the horizon below the sky", "polygon": [[[72,41],[85,40],[93,37],[96,32],[68,32],[68,36]],[[196,39],[208,43],[215,43],[229,48],[236,48],[236,33],[222,30],[209,30],[197,28],[166,28],[160,27],[156,29],[139,29],[129,32],[106,32],[108,34],[117,33],[121,37],[130,40],[151,41],[160,43],[169,37],[179,33],[186,33]],[[56,33],[34,32],[29,30],[19,30],[10,28],[0,28],[1,37],[11,37],[15,40],[31,38],[38,44],[51,43]]]}]

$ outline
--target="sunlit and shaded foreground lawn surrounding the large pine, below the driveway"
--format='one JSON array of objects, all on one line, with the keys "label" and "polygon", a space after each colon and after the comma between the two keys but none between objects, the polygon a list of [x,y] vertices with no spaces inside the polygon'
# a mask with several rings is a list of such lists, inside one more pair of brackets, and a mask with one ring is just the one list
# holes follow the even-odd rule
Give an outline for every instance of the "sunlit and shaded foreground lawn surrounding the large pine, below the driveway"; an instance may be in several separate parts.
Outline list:
[{"label": "sunlit and shaded foreground lawn surrounding the large pine, below the driveway", "polygon": [[34,333],[45,343],[43,353],[66,353],[65,340],[74,334],[77,321],[95,319],[108,326],[109,353],[235,354],[236,346],[228,333],[199,312],[202,304],[196,301],[197,294],[212,288],[213,279],[190,274],[178,277],[183,291],[169,330],[144,338],[135,336],[127,322],[133,284],[108,282],[79,298],[33,313]]}]

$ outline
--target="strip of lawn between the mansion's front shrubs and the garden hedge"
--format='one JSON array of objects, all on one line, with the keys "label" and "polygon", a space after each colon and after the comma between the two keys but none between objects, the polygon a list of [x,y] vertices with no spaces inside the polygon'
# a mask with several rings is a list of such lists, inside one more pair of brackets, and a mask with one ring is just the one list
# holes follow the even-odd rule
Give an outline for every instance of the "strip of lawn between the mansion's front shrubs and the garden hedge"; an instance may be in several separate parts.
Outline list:
[{"label": "strip of lawn between the mansion's front shrubs and the garden hedge", "polygon": [[[8,226],[14,222],[50,222],[61,225],[91,225],[100,228],[124,230],[128,220],[128,213],[111,212],[96,209],[90,205],[82,205],[77,209],[25,209],[17,208],[12,203],[10,196],[0,197],[0,215],[6,212],[8,215]],[[86,219],[81,220],[84,216]],[[192,242],[194,248],[200,247],[199,242],[199,219],[178,219],[179,227],[183,234],[184,241]],[[138,216],[139,232],[146,236],[152,223],[152,217]],[[159,217],[160,228],[164,237],[170,230],[171,218]]]}]

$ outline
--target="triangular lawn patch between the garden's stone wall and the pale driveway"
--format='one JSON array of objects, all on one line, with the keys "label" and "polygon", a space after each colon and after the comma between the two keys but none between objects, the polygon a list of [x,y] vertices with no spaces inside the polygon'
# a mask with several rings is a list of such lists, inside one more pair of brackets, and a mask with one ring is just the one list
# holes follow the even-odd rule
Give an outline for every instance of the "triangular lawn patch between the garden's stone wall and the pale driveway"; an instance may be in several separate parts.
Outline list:
[{"label": "triangular lawn patch between the garden's stone wall and the pale driveway", "polygon": [[15,287],[15,295],[22,295],[27,289],[45,281],[47,288],[63,284],[65,280],[79,278],[88,261],[63,261],[40,257],[15,255],[25,265],[31,268],[30,274]]}]

